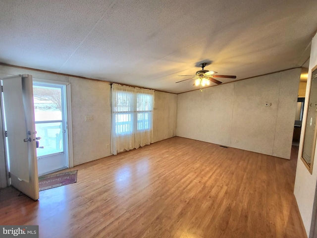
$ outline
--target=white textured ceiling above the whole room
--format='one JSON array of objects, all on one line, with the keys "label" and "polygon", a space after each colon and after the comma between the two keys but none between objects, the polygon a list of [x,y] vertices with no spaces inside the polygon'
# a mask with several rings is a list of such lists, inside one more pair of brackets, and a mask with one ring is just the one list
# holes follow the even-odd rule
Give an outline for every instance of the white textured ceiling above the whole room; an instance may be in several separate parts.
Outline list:
[{"label": "white textured ceiling above the whole room", "polygon": [[177,75],[204,61],[236,80],[302,66],[316,9],[317,0],[0,0],[0,62],[180,93],[195,87]]}]

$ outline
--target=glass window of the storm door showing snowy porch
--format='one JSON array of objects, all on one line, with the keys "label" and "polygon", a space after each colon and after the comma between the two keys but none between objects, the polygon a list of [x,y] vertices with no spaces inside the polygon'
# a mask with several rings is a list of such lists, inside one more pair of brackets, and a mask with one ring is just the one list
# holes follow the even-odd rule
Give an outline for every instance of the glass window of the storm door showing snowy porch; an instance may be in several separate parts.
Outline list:
[{"label": "glass window of the storm door showing snowy porch", "polygon": [[33,84],[35,126],[37,136],[41,137],[38,158],[64,153],[65,147],[64,88],[44,85]]}]

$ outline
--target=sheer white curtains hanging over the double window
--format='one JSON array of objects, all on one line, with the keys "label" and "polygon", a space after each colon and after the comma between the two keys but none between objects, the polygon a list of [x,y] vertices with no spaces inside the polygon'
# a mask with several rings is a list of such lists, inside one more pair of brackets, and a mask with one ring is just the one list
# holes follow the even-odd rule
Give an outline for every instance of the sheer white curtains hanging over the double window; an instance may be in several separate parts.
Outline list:
[{"label": "sheer white curtains hanging over the double window", "polygon": [[153,143],[154,90],[112,84],[111,153]]}]

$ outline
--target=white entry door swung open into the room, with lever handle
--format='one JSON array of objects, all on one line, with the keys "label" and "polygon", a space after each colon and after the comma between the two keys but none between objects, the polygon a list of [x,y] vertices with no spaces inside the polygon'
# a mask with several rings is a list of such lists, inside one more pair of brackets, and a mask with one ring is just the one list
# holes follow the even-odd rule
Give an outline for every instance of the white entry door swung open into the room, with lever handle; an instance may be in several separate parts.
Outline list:
[{"label": "white entry door swung open into the room, with lever handle", "polygon": [[11,185],[39,199],[32,75],[1,78],[2,115]]}]

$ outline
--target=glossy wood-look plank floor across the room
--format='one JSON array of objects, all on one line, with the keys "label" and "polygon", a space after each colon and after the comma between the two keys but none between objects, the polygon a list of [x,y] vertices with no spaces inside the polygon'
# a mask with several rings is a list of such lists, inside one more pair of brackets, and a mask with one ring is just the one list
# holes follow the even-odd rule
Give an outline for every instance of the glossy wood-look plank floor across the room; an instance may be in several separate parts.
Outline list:
[{"label": "glossy wood-look plank floor across the room", "polygon": [[43,238],[305,238],[284,160],[173,137],[78,170],[40,200],[0,190],[1,225]]}]

